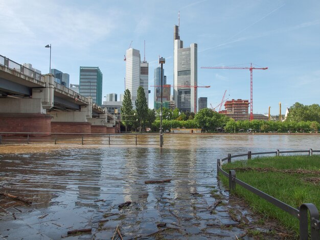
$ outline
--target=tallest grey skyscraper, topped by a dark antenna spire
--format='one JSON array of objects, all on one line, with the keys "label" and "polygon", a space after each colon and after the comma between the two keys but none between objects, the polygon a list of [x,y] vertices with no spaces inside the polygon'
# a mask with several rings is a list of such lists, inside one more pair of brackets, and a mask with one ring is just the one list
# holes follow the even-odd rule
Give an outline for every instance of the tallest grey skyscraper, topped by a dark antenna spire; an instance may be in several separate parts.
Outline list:
[{"label": "tallest grey skyscraper, topped by a dark antenna spire", "polygon": [[197,53],[196,43],[184,48],[179,27],[174,26],[173,97],[175,105],[182,112],[197,112],[197,88],[194,87],[198,81]]}]

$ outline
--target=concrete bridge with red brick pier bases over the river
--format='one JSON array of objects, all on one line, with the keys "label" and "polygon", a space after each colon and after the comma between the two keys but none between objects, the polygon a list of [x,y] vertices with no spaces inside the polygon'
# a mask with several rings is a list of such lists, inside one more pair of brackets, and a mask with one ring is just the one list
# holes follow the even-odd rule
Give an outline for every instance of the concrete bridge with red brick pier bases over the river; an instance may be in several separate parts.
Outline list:
[{"label": "concrete bridge with red brick pier bases over the river", "polygon": [[0,132],[117,133],[106,109],[37,71],[0,55]]}]

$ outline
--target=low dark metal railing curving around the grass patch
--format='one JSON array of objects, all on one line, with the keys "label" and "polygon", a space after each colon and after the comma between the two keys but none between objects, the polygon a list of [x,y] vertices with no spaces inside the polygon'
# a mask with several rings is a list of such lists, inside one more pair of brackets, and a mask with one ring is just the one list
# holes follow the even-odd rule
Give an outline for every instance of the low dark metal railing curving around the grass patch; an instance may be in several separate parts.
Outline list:
[{"label": "low dark metal railing curving around the grass patch", "polygon": [[[231,155],[228,154],[227,157],[222,159],[217,159],[217,173],[221,173],[225,177],[229,179],[229,189],[234,191],[236,189],[236,184],[239,184],[243,188],[249,190],[253,194],[265,199],[269,203],[279,207],[280,209],[288,212],[289,214],[293,215],[295,218],[299,220],[299,233],[300,239],[307,240],[308,239],[308,222],[310,223],[310,231],[311,231],[311,239],[312,240],[319,240],[320,239],[320,221],[319,221],[319,211],[317,210],[316,206],[312,203],[303,203],[299,209],[296,209],[272,196],[264,193],[263,191],[241,181],[240,179],[236,178],[236,171],[230,170],[229,173],[226,173],[221,169],[221,164],[223,161],[231,162],[232,158],[236,157],[243,157],[247,156],[247,159],[251,159],[252,155],[268,155],[268,154],[275,154],[276,156],[280,156],[280,154],[287,154],[287,153],[308,153],[309,156],[312,156],[313,153],[320,153],[320,151],[314,151],[312,149],[306,151],[275,151],[275,152],[261,152],[261,153],[252,153],[249,151],[245,154],[238,154],[238,155]],[[308,211],[310,213],[310,221],[308,221]]]}]

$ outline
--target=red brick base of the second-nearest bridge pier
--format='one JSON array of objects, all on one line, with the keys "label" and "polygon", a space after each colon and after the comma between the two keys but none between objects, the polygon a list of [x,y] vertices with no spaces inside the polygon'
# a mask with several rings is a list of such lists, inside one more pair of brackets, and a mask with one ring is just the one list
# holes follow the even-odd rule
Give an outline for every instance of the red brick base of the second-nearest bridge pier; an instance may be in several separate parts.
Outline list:
[{"label": "red brick base of the second-nearest bridge pier", "polygon": [[90,123],[52,122],[52,133],[91,133]]}]

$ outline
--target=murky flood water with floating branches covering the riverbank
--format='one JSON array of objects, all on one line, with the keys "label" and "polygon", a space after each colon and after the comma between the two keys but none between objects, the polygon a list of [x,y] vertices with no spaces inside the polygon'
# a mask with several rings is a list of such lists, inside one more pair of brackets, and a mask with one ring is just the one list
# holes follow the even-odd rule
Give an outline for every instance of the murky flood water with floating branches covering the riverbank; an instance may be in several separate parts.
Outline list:
[{"label": "murky flood water with floating branches covering the riverbank", "polygon": [[[157,137],[147,136],[150,141]],[[208,227],[234,223],[228,206],[218,206],[214,214],[206,211],[216,201],[213,187],[227,197],[216,177],[217,158],[319,146],[318,135],[247,134],[165,134],[162,149],[1,145],[0,192],[33,203],[0,196],[0,239],[111,239],[117,226],[124,239],[158,239],[159,234],[165,239],[235,239],[243,229]],[[145,184],[154,179],[172,180]],[[126,201],[131,205],[119,209]],[[158,223],[168,229],[153,234]],[[67,236],[69,230],[84,228],[93,230]]]}]

